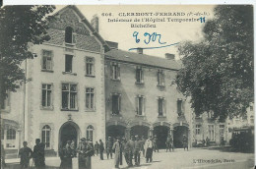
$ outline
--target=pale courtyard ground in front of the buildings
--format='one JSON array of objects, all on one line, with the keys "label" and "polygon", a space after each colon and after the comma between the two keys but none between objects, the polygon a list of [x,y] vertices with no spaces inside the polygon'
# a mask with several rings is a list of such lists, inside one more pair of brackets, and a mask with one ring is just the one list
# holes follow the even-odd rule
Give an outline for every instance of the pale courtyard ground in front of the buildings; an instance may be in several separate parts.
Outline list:
[{"label": "pale courtyard ground in front of the buildings", "polygon": [[[112,169],[114,168],[114,159],[99,160],[99,156],[92,158],[93,169]],[[123,158],[123,165],[120,168],[128,168]],[[57,157],[46,158],[47,168],[58,168],[60,160]],[[9,164],[10,166],[11,164]],[[73,169],[77,169],[77,158],[73,159]],[[9,167],[9,168],[17,168]],[[240,152],[223,152],[220,150],[197,149],[193,148],[189,151],[183,149],[175,149],[174,152],[154,152],[153,162],[146,163],[145,158],[141,158],[141,165],[132,167],[136,169],[191,169],[191,168],[231,168],[246,169],[254,168],[254,154]]]}]

